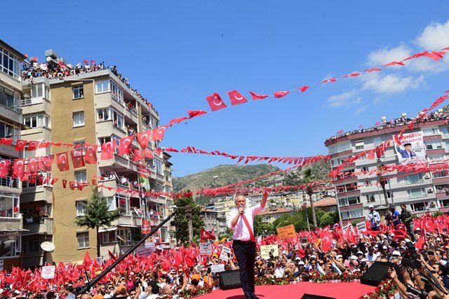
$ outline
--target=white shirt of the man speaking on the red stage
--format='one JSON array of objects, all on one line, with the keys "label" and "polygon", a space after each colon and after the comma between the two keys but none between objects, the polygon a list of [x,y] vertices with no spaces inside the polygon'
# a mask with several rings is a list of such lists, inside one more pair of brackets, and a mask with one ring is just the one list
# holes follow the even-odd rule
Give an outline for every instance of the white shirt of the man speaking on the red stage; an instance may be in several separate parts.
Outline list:
[{"label": "white shirt of the man speaking on the red stage", "polygon": [[[251,230],[254,232],[254,216],[262,211],[264,207],[262,207],[260,204],[256,204],[254,207],[246,207],[244,211],[244,215],[246,219],[248,220],[248,224],[250,225]],[[248,228],[246,227],[245,221],[243,221],[243,217],[240,216],[239,220],[237,221],[236,226],[234,228],[231,225],[232,219],[234,219],[235,216],[239,214],[239,209],[235,208],[232,209],[227,213],[226,216],[226,223],[227,227],[232,230],[232,239],[238,239],[240,241],[249,241],[251,239],[250,232]]]}]

